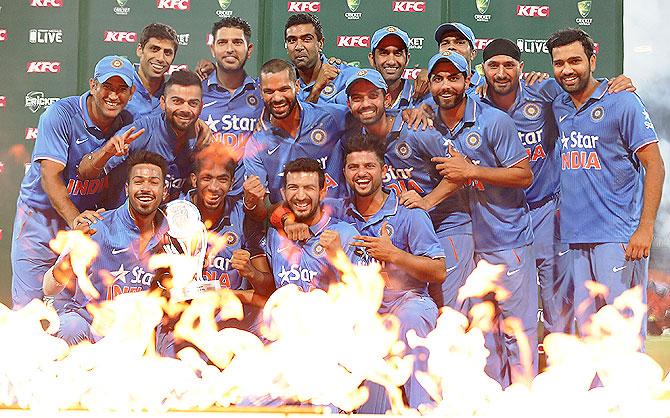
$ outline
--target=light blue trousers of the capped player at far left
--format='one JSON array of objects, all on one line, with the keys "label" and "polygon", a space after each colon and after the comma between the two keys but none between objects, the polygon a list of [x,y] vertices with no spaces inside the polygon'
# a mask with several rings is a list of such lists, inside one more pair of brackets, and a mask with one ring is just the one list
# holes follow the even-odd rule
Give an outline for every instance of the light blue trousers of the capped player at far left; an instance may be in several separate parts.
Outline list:
[{"label": "light blue trousers of the capped player at far left", "polygon": [[40,211],[17,200],[11,255],[12,303],[15,309],[44,297],[44,273],[58,258],[49,248],[49,241],[65,228],[67,224],[54,209]]}]

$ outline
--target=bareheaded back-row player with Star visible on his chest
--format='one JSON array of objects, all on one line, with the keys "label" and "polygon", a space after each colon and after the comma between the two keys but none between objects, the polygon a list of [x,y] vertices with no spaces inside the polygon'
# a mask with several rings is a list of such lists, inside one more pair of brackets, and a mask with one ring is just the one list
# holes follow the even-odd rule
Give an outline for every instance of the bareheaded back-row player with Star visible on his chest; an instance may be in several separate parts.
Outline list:
[{"label": "bareheaded back-row player with Star visible on his chest", "polygon": [[263,101],[256,79],[247,74],[244,65],[251,57],[254,45],[251,27],[237,16],[225,17],[212,27],[210,51],[216,71],[202,83],[202,112],[213,132],[213,140],[227,144],[237,151],[238,164],[235,183],[228,194],[240,196],[244,182],[244,146],[263,111]]}]

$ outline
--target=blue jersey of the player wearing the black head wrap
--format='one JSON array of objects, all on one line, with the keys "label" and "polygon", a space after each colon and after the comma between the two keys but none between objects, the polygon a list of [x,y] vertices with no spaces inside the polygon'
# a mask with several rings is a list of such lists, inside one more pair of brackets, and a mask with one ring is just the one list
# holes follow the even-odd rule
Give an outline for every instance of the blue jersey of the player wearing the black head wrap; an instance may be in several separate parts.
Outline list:
[{"label": "blue jersey of the player wearing the black head wrap", "polygon": [[[559,190],[559,152],[556,146],[558,130],[552,104],[563,92],[561,86],[549,79],[532,86],[520,80],[516,100],[506,112],[514,121],[521,143],[526,148],[533,170],[533,183],[526,189],[529,204],[545,201]],[[488,98],[482,102],[495,106]]]}]

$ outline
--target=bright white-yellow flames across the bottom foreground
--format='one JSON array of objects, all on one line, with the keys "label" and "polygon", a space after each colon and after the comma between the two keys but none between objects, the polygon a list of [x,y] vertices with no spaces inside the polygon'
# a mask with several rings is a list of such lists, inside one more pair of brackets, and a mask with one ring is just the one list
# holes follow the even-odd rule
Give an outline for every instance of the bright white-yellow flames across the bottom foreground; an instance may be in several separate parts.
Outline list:
[{"label": "bright white-yellow flames across the bottom foreground", "polygon": [[[63,238],[57,248],[80,239]],[[83,260],[77,260],[75,250],[70,254],[73,265],[90,264],[89,253],[81,255]],[[174,272],[183,261],[183,256],[171,256],[154,263],[170,265]],[[412,373],[413,359],[403,355],[398,321],[377,313],[384,289],[379,266],[352,266],[344,254],[333,262],[343,272],[342,280],[327,292],[305,293],[289,285],[273,293],[263,311],[262,338],[218,329],[217,320],[242,316],[242,303],[227,289],[190,303],[168,301],[158,292],[104,301],[90,307],[93,326],[103,338],[74,347],[50,335],[58,317],[43,303],[33,301],[16,312],[0,307],[0,402],[51,414],[67,408],[162,412],[295,402],[352,411],[367,399],[362,383],[369,380],[386,387],[392,413],[417,414],[405,406],[399,388]],[[499,266],[478,266],[460,296],[492,291],[505,297],[508,293],[496,281],[500,271]],[[484,372],[488,351],[483,333],[491,327],[492,303],[475,305],[471,322],[444,308],[426,338],[408,335],[410,346],[430,352],[428,371],[418,377],[435,405],[421,412],[445,417],[667,417],[670,380],[638,351],[645,313],[640,300],[641,289],[636,288],[602,308],[586,337],[549,335],[549,367],[505,390]],[[175,336],[201,353],[186,348],[178,359],[156,355],[154,330],[166,312],[181,315]],[[47,331],[41,320],[49,323]],[[505,326],[517,329],[514,321]],[[516,335],[521,341],[521,333]],[[592,388],[596,375],[601,385]]]}]

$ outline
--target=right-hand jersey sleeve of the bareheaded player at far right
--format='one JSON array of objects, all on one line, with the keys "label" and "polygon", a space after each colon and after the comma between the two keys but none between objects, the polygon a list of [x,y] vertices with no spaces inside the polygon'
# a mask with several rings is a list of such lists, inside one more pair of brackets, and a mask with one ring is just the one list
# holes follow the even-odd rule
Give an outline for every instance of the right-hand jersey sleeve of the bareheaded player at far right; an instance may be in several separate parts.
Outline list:
[{"label": "right-hand jersey sleeve of the bareheaded player at far right", "polygon": [[658,142],[658,135],[649,112],[638,95],[629,92],[617,93],[617,102],[619,100],[621,100],[620,134],[628,149],[635,153],[647,144]]}]

